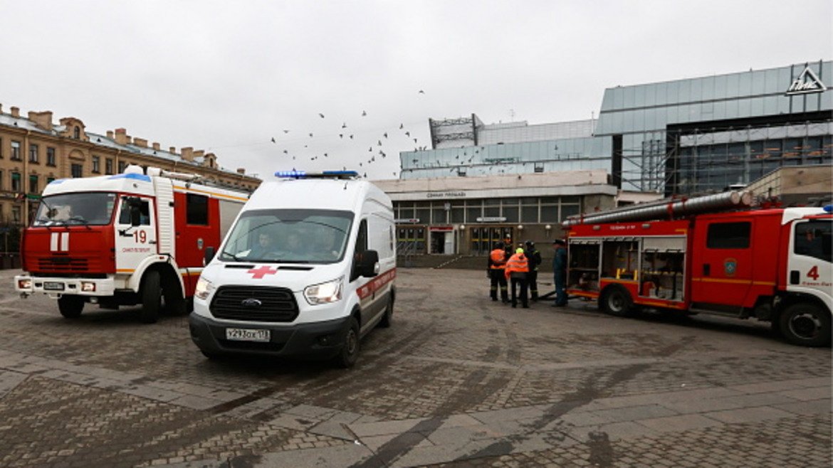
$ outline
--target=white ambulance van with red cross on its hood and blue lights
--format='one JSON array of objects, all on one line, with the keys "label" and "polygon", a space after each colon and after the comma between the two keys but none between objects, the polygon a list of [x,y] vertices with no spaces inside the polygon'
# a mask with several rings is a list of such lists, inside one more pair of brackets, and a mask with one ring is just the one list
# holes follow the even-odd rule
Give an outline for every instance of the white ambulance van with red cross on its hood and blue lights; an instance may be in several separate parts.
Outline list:
[{"label": "white ambulance van with red cross on its hood and blue lights", "polygon": [[317,356],[352,366],[362,337],[392,321],[391,199],[356,172],[276,176],[206,252],[192,341],[209,358]]}]

